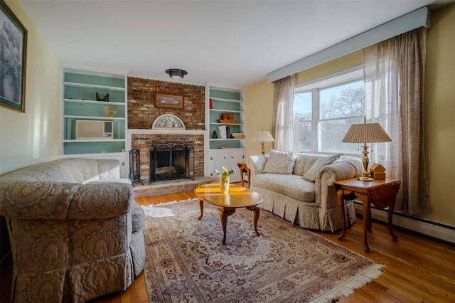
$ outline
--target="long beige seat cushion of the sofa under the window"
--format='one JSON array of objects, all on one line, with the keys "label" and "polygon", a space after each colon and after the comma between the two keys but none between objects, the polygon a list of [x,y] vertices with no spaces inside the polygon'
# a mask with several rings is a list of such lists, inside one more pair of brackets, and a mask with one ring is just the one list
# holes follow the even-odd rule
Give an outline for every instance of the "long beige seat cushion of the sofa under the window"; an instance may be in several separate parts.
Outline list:
[{"label": "long beige seat cushion of the sofa under the window", "polygon": [[314,182],[309,182],[296,175],[257,174],[252,176],[255,187],[282,193],[285,196],[303,202],[314,202]]}]

